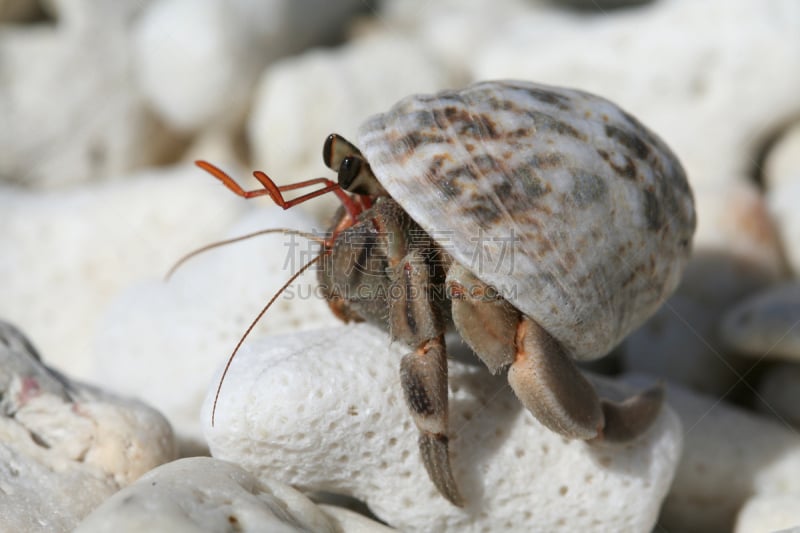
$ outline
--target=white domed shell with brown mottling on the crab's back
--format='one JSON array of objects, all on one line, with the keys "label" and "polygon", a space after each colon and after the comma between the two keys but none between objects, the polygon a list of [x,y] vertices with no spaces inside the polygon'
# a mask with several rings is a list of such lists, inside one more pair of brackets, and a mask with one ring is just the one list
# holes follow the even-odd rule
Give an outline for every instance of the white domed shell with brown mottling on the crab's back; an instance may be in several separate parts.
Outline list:
[{"label": "white domed shell with brown mottling on the crab's back", "polygon": [[411,96],[368,119],[358,144],[411,218],[576,359],[649,317],[690,253],[679,161],[586,92],[493,81]]}]

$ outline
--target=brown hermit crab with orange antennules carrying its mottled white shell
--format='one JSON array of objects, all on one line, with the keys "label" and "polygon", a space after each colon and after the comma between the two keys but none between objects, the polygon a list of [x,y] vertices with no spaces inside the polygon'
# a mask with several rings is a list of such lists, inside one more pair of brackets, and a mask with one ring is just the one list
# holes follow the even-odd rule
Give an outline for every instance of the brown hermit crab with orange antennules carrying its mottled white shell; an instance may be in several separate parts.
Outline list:
[{"label": "brown hermit crab with orange antennules carrying its mottled white shell", "polygon": [[[344,321],[408,345],[400,381],[439,492],[463,500],[448,451],[445,332],[454,327],[523,405],[570,439],[628,441],[657,415],[654,388],[600,398],[575,361],[606,355],[675,289],[695,228],[669,148],[598,96],[523,81],[410,96],[328,137],[323,178],[243,190],[284,208],[342,199],[319,283]],[[282,193],[322,188],[286,201]]]}]

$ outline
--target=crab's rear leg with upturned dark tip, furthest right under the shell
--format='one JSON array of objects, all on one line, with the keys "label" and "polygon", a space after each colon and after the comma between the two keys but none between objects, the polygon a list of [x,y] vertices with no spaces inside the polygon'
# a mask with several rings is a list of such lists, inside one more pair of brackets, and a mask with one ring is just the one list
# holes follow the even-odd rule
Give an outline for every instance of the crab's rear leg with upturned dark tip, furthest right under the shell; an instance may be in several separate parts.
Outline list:
[{"label": "crab's rear leg with upturned dark tip, furthest right under the shell", "polygon": [[661,387],[623,402],[598,396],[561,344],[463,266],[447,273],[453,321],[492,373],[508,368],[522,404],[549,429],[571,439],[627,442],[658,415]]}]

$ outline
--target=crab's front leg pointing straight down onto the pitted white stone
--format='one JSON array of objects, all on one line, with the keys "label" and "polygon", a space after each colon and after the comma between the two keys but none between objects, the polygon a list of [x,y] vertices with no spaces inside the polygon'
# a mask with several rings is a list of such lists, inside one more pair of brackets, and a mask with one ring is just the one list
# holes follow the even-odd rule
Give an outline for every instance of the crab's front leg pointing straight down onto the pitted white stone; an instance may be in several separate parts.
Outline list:
[{"label": "crab's front leg pointing straight down onto the pitted white stone", "polygon": [[393,279],[390,323],[393,336],[416,346],[403,357],[400,383],[419,429],[419,450],[428,476],[439,492],[462,506],[450,466],[447,437],[447,354],[440,311],[429,299],[428,265],[411,251]]}]

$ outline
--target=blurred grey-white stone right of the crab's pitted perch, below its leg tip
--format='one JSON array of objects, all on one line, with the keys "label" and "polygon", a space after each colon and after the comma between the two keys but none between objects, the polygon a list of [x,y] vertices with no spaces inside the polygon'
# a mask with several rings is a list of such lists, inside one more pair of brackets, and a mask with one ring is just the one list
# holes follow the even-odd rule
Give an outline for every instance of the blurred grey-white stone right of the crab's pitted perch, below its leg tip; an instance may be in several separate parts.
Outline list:
[{"label": "blurred grey-white stone right of the crab's pitted perch, below its leg tip", "polygon": [[[627,375],[635,387],[654,378]],[[667,403],[683,425],[683,455],[664,500],[666,531],[731,531],[753,495],[800,493],[800,435],[787,425],[681,385],[667,386]]]}]

